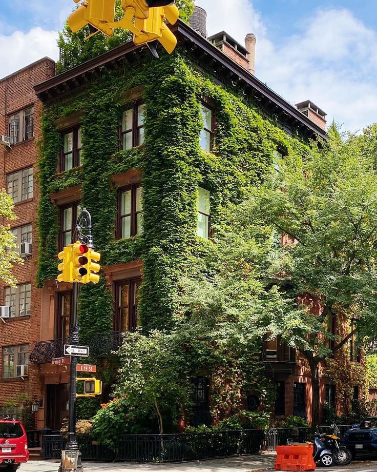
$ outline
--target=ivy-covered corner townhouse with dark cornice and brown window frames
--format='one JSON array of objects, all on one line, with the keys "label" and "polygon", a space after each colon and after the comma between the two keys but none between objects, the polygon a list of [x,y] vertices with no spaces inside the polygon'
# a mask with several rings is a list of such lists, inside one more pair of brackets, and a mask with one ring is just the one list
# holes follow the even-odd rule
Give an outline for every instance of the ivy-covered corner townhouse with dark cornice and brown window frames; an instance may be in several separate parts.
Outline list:
[{"label": "ivy-covered corner townhouse with dark cornice and brown window frames", "polygon": [[[174,325],[177,280],[190,254],[211,243],[220,208],[242,201],[276,153],[326,139],[325,113],[298,108],[254,76],[255,36],[246,47],[225,32],[206,38],[178,21],[176,51],[155,60],[125,43],[35,87],[44,104],[38,160],[40,338],[30,349],[43,399],[38,427],[67,415],[69,369],[53,365],[69,336],[71,286],[56,284],[56,255],[77,214],[92,214],[99,284],[80,291],[80,344],[111,398],[121,333]],[[310,420],[310,377],[279,340],[261,358],[276,390],[275,416]],[[354,359],[357,362],[357,358]],[[335,401],[328,377],[322,403]],[[211,378],[193,378],[194,423],[209,421]],[[258,409],[259,391],[242,392]]]}]

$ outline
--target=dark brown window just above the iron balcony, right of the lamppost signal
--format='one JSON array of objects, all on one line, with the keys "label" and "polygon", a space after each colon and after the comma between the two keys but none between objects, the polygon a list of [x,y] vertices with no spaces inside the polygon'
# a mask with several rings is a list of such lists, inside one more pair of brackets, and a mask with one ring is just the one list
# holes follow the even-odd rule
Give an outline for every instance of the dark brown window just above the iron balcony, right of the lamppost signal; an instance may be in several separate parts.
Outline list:
[{"label": "dark brown window just above the iron balcony, right of the lamppost signal", "polygon": [[119,282],[115,287],[114,331],[133,331],[140,322],[137,316],[140,279]]}]

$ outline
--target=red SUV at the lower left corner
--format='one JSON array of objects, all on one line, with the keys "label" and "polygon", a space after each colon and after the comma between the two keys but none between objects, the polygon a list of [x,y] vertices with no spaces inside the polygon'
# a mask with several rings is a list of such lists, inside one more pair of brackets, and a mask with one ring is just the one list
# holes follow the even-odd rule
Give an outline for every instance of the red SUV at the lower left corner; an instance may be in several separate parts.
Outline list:
[{"label": "red SUV at the lower left corner", "polygon": [[13,472],[28,459],[24,426],[13,418],[0,418],[0,472]]}]

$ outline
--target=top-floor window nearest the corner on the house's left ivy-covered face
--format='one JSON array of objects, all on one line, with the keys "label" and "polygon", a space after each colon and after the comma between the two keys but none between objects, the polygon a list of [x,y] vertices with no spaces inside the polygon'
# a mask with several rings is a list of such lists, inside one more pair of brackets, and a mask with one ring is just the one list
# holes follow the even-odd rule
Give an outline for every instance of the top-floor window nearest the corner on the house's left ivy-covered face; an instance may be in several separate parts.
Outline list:
[{"label": "top-floor window nearest the corner on the house's left ivy-covered face", "polygon": [[122,149],[131,149],[144,143],[145,105],[135,104],[122,115]]}]

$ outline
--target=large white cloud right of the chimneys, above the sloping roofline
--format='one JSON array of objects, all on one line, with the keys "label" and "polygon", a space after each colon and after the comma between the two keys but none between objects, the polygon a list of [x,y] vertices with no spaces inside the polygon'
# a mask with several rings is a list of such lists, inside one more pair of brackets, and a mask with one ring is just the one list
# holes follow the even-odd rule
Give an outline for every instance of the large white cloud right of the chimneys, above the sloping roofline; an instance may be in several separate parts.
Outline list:
[{"label": "large white cloud right of the chimneys, above the sloping roofline", "polygon": [[377,121],[377,31],[347,9],[317,10],[299,33],[273,44],[249,0],[198,0],[208,13],[208,34],[226,30],[243,43],[257,35],[256,76],[291,103],[315,102],[345,129]]}]

